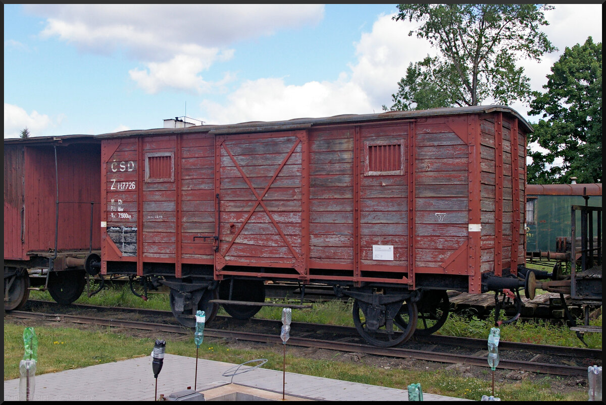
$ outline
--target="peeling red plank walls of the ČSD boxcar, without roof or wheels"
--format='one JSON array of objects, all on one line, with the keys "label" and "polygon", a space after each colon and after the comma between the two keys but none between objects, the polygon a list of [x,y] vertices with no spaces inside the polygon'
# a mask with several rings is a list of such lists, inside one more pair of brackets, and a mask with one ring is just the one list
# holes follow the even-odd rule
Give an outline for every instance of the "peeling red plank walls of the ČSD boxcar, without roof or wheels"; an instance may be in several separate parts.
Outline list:
[{"label": "peeling red plank walls of the \u010cSD boxcar, without roof or wheels", "polygon": [[[458,274],[467,275],[468,292],[480,292],[481,272],[514,263],[523,244],[515,225],[521,205],[514,201],[524,184],[524,153],[516,149],[517,119],[504,115],[241,134],[188,128],[142,132],[118,147],[107,139],[105,197],[121,199],[130,212],[130,218],[108,219],[108,226],[137,228],[138,271],[144,261],[165,260],[180,277],[183,263],[214,263],[217,279],[265,277],[258,268],[267,267],[283,268],[275,277],[304,282],[384,280],[411,288],[418,287],[418,274]],[[381,149],[369,152],[373,145],[399,147],[403,156],[391,163],[402,170],[393,164],[365,170],[368,153]],[[173,182],[142,181],[139,168],[151,153],[174,153]],[[111,171],[112,163],[130,160],[136,170]],[[116,182],[136,186],[112,190]],[[208,239],[194,239],[199,236]],[[378,245],[393,246],[393,260],[373,260]],[[134,258],[114,254],[113,260]]]}]

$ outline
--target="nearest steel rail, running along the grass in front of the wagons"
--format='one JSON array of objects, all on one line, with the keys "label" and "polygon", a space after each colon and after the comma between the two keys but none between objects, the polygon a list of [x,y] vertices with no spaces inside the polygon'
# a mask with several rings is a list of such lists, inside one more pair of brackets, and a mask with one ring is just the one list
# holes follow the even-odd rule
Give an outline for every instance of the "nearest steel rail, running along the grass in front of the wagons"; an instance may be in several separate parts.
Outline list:
[{"label": "nearest steel rail, running along the grass in front of the wagons", "polygon": [[[47,321],[68,320],[72,321],[73,323],[96,324],[99,326],[143,329],[147,331],[169,332],[176,334],[191,334],[190,328],[185,328],[181,325],[167,325],[161,323],[83,317],[81,315],[42,314],[39,312],[27,311],[11,311],[7,315],[11,315],[17,318],[44,319]],[[218,329],[210,328],[204,329],[204,333],[208,337],[233,338],[235,340],[255,341],[258,343],[282,343],[282,340],[278,335],[267,335],[252,332],[220,331]],[[461,363],[473,366],[487,366],[487,359],[485,357],[450,354],[444,352],[419,351],[413,349],[403,349],[401,347],[376,347],[367,344],[334,342],[300,337],[290,337],[290,339],[288,340],[288,345],[301,347],[316,347],[319,349],[328,349],[342,352],[358,352],[364,354],[390,356],[396,358],[412,357],[417,360],[436,361],[439,363]],[[587,367],[576,367],[562,364],[536,363],[533,361],[516,361],[506,359],[502,359],[501,361],[499,361],[498,368],[510,370],[525,370],[529,372],[561,375],[567,377],[587,374]]]}]

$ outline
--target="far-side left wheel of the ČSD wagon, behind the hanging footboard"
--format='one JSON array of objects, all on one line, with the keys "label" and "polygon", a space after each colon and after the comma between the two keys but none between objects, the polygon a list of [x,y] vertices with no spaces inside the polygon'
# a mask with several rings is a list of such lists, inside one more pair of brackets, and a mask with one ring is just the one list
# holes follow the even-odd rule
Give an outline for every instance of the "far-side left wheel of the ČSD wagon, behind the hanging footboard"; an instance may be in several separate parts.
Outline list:
[{"label": "far-side left wheel of the \u010cSD wagon, behind the hanging footboard", "polygon": [[[232,284],[233,286],[231,286]],[[262,280],[239,280],[238,278],[224,280],[219,284],[219,298],[231,301],[265,302],[265,285]],[[223,304],[223,308],[231,317],[246,320],[255,316],[261,309],[261,305]]]}]

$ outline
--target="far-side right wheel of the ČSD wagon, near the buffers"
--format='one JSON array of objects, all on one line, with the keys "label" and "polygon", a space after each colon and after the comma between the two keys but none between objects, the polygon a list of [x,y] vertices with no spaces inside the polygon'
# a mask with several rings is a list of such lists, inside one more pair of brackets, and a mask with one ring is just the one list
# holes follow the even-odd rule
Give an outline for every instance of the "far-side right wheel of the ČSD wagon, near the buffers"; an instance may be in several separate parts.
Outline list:
[{"label": "far-side right wheel of the \u010cSD wagon, near the buffers", "polygon": [[[410,323],[408,315],[408,303],[404,303],[395,322],[401,328],[406,328]],[[423,294],[421,301],[417,304],[418,320],[416,323],[415,335],[428,336],[437,332],[448,318],[450,311],[450,301],[446,291],[427,291]]]}]

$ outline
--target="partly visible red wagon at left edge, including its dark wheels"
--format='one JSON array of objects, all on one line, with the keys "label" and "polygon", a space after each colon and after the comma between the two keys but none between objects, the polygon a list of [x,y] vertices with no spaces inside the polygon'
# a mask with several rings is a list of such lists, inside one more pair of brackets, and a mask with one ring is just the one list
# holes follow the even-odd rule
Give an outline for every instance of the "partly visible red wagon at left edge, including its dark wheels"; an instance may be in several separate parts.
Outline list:
[{"label": "partly visible red wagon at left edge, including its dark wheels", "polygon": [[101,248],[100,165],[93,136],[4,140],[5,309],[25,304],[30,282],[60,303],[82,293],[84,258]]}]

